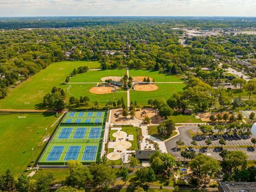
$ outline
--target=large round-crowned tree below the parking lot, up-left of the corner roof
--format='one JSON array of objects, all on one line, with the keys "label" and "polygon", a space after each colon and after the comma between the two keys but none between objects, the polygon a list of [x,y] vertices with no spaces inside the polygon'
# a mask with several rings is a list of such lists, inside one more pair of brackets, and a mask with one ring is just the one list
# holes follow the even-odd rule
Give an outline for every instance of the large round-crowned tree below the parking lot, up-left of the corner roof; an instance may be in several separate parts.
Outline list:
[{"label": "large round-crowned tree below the parking lot, up-left of the corner roof", "polygon": [[220,164],[217,160],[203,154],[199,154],[192,159],[189,162],[189,166],[193,174],[205,181],[208,175],[210,175],[211,179],[220,170]]}]

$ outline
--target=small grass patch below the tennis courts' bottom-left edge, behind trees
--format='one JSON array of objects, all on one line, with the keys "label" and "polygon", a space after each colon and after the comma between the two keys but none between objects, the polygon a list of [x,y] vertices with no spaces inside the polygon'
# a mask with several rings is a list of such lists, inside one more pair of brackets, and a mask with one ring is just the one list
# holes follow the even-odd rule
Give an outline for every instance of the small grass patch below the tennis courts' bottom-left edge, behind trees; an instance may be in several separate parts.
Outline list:
[{"label": "small grass patch below the tennis courts' bottom-left edge, behind trees", "polygon": [[46,168],[39,169],[36,174],[33,175],[32,179],[38,179],[41,175],[46,175],[47,173],[52,173],[55,178],[54,182],[65,181],[68,176],[68,169],[66,168]]}]

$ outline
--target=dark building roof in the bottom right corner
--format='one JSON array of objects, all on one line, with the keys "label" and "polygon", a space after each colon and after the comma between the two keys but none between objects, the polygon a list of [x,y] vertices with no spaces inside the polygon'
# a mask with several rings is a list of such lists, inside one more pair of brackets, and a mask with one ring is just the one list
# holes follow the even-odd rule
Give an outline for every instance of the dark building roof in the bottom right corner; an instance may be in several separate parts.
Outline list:
[{"label": "dark building roof in the bottom right corner", "polygon": [[256,182],[221,182],[223,192],[252,192],[256,191]]}]

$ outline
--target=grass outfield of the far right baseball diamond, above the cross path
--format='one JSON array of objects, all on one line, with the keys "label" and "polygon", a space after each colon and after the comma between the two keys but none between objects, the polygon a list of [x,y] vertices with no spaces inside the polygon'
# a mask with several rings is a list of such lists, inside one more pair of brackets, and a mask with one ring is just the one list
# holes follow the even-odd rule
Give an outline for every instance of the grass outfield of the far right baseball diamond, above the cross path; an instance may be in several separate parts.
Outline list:
[{"label": "grass outfield of the far right baseball diamond, above the cross path", "polygon": [[171,75],[169,73],[164,73],[164,71],[154,71],[154,70],[141,70],[141,69],[131,69],[129,70],[129,76],[146,76],[151,77],[155,82],[183,82],[180,75]]}]

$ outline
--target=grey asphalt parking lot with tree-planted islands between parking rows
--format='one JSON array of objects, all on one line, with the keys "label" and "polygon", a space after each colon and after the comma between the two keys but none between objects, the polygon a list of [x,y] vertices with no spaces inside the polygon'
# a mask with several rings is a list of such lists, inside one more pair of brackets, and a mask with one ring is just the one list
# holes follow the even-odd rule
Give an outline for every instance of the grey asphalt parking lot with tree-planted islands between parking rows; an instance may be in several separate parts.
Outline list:
[{"label": "grey asphalt parking lot with tree-planted islands between parking rows", "polygon": [[[190,134],[188,130],[197,130],[197,125],[182,125],[182,127],[179,127],[180,135],[165,142],[166,148],[168,153],[174,155],[175,157],[179,157],[181,160],[183,160],[183,157],[180,155],[180,151],[177,149],[176,141],[181,139],[184,143],[185,146],[192,146],[191,141],[193,139],[190,138]],[[208,137],[208,136],[207,136]],[[195,137],[195,141],[197,142],[197,146],[206,146],[205,144],[205,139],[207,138],[206,136],[197,136]],[[221,136],[221,135],[215,135],[215,136],[210,136],[209,137],[212,140],[212,144],[210,146],[221,146],[219,144],[219,139],[223,138],[226,141],[226,146],[244,146],[244,145],[253,145],[251,142],[251,136],[244,135],[244,136]],[[253,147],[250,148],[225,148],[227,150],[242,150],[248,155],[248,160],[256,160],[256,153],[255,149]],[[196,153],[203,153],[205,155],[209,155],[215,159],[221,160],[222,158],[219,156],[220,151],[216,149],[196,149]]]}]

